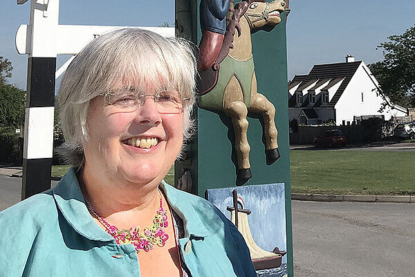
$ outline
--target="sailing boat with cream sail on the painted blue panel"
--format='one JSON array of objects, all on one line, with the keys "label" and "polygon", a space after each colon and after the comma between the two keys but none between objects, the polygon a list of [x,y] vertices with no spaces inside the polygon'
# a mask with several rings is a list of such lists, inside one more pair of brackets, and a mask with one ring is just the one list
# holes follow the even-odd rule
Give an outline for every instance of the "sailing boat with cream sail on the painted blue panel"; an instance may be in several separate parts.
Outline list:
[{"label": "sailing boat with cream sail on the painted blue panel", "polygon": [[237,195],[237,190],[232,191],[232,196],[233,206],[228,206],[227,210],[231,213],[231,221],[238,227],[239,232],[241,232],[248,245],[255,269],[271,269],[281,266],[282,256],[286,254],[286,251],[279,250],[278,247],[275,247],[272,252],[265,251],[255,243],[248,223],[248,215],[250,215],[251,211],[245,209],[243,199]]}]

